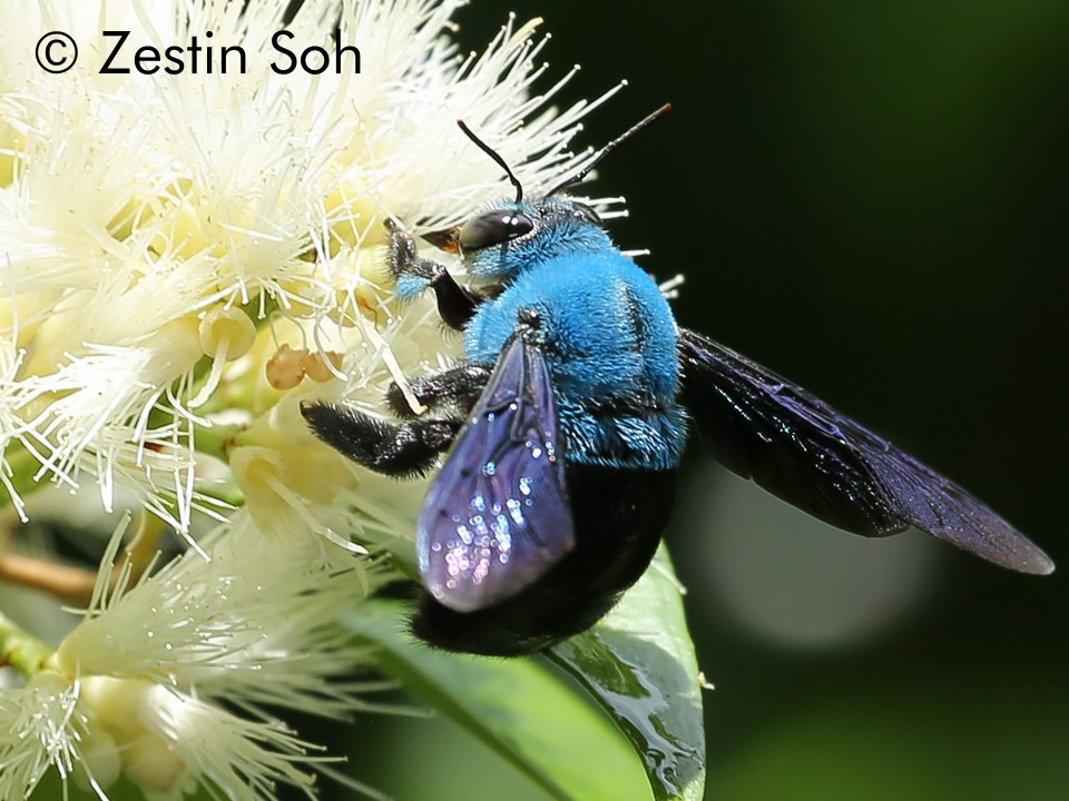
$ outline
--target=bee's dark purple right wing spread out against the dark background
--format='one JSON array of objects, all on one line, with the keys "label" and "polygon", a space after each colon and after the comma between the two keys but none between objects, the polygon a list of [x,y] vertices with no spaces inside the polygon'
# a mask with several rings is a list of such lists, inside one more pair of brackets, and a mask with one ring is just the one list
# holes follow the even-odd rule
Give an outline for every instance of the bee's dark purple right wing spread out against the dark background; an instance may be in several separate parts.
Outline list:
[{"label": "bee's dark purple right wing spread out against the dark background", "polygon": [[950,479],[733,350],[680,332],[684,388],[726,467],[832,525],[882,536],[911,525],[1024,573],[1055,565]]}]

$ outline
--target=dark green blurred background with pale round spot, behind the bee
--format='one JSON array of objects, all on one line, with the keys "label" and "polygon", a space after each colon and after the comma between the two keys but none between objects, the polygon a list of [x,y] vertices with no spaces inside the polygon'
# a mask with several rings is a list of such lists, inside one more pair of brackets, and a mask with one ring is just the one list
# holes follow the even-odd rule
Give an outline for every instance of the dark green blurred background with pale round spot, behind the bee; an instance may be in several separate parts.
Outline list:
[{"label": "dark green blurred background with pale round spot, behind the bee", "polygon": [[[627,197],[611,230],[648,270],[686,275],[680,323],[952,476],[1061,567],[842,534],[695,447],[668,536],[716,685],[708,799],[1069,798],[1069,3],[474,0],[463,46],[510,10],[546,19],[552,75],[582,65],[562,103],[629,81],[579,146],[674,103],[590,191]],[[356,775],[399,799],[541,798],[448,723],[373,726]]]}]

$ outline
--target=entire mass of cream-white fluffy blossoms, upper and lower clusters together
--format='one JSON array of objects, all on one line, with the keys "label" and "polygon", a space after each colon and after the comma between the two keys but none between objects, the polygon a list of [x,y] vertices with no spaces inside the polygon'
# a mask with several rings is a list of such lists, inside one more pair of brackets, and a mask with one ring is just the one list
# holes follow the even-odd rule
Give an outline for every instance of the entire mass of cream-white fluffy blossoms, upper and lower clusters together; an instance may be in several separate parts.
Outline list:
[{"label": "entire mass of cream-white fluffy blossoms, upper and lower clusters together", "polygon": [[[534,22],[464,56],[458,0],[288,4],[0,6],[0,505],[17,528],[38,487],[96,485],[101,512],[133,498],[189,545],[136,581],[105,570],[55,652],[0,614],[27,678],[0,690],[0,798],[50,769],[101,798],[120,773],[160,799],[313,792],[320,755],[263,710],[359,705],[336,612],[376,574],[339,544],[396,547],[420,492],[318,443],[300,403],[375,409],[455,353],[431,304],[400,314],[381,246],[388,218],[419,235],[508,194],[458,119],[532,192],[590,158],[567,152],[590,106],[548,106],[571,73],[542,87]],[[359,75],[273,71],[282,29],[359,48]],[[245,69],[109,75],[117,30],[122,66],[210,31]],[[69,71],[35,60],[49,31],[77,42]],[[199,542],[197,512],[219,521]]]}]

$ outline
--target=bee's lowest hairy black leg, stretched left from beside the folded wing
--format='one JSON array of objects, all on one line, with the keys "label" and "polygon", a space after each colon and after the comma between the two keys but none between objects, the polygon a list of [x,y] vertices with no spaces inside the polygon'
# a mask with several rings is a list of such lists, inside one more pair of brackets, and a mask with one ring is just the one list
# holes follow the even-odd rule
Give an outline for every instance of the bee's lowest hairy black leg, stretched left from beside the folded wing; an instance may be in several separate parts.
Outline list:
[{"label": "bee's lowest hairy black leg, stretched left from beside the folded wing", "polygon": [[398,477],[431,469],[461,426],[458,421],[392,425],[347,406],[323,403],[302,404],[301,414],[331,447],[376,473]]}]

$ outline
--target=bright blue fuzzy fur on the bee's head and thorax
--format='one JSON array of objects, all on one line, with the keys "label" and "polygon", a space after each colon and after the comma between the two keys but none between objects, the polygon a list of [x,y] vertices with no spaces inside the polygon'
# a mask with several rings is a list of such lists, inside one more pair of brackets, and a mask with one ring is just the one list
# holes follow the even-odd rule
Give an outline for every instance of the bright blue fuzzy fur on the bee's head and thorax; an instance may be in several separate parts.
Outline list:
[{"label": "bright blue fuzzy fur on the bee's head and thorax", "polygon": [[657,284],[566,198],[499,208],[531,217],[536,227],[470,256],[473,276],[506,288],[468,324],[467,357],[492,364],[522,313],[537,312],[568,461],[676,467],[686,414],[676,400],[676,324]]}]

